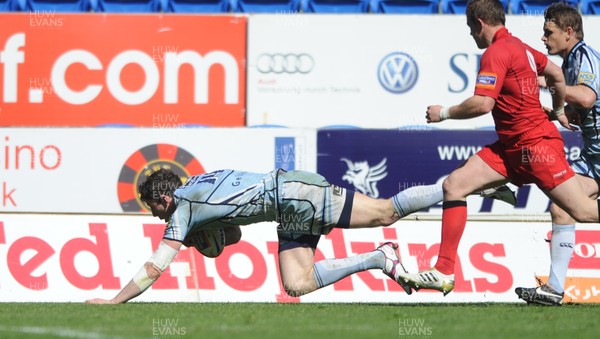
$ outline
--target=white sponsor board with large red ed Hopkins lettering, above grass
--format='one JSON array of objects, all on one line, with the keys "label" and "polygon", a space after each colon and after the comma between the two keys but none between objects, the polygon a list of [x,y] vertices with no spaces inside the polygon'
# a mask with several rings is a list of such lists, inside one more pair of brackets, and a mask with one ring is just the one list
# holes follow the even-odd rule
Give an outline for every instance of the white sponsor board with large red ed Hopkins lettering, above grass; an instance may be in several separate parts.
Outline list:
[{"label": "white sponsor board with large red ed Hopkins lettering, above grass", "polygon": [[[448,296],[407,296],[378,270],[361,272],[300,298],[279,282],[274,223],[242,228],[242,241],[216,259],[180,251],[138,301],[257,302],[516,302],[514,288],[533,286],[547,272],[547,223],[469,222],[459,248],[456,287]],[[0,216],[0,299],[83,301],[112,298],[150,257],[164,224],[150,216]],[[439,247],[440,222],[403,220],[392,227],[334,230],[322,237],[316,259],[370,251],[398,242],[409,271],[429,267]],[[589,270],[589,279],[598,279]]]}]

